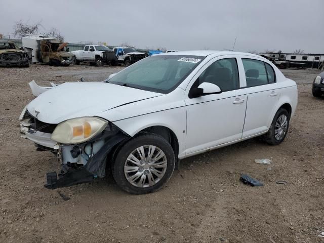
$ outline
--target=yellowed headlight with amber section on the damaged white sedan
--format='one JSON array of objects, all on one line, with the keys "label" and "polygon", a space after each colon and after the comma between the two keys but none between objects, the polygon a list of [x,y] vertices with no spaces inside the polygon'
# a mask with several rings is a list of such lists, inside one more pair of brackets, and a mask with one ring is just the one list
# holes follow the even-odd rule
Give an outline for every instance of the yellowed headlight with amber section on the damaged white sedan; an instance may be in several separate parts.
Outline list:
[{"label": "yellowed headlight with amber section on the damaged white sedan", "polygon": [[52,140],[63,144],[83,143],[107,126],[108,121],[97,117],[80,117],[63,121],[55,128]]}]

